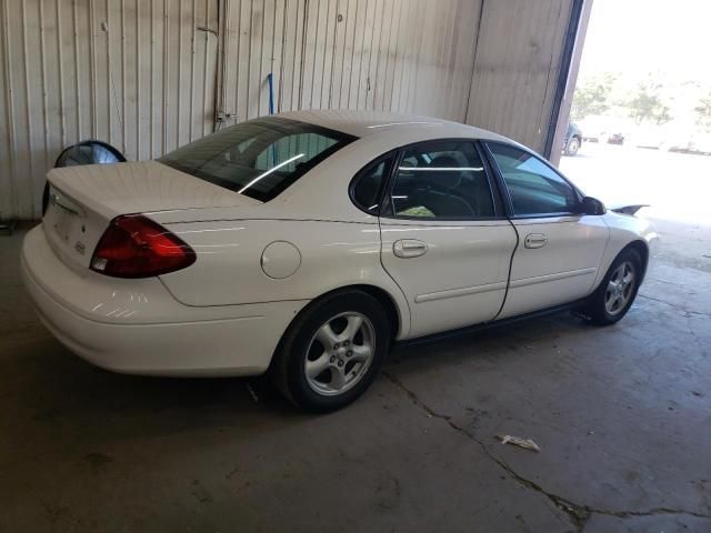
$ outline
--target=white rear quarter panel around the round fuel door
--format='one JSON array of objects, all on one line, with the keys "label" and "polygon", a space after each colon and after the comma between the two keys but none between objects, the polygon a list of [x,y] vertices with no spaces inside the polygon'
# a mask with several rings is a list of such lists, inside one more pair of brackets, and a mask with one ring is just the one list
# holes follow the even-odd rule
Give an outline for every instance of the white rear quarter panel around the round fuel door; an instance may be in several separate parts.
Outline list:
[{"label": "white rear quarter panel around the round fuel door", "polygon": [[[233,220],[166,224],[188,244],[198,260],[188,269],[161,276],[171,294],[186,305],[236,305],[312,300],[347,285],[384,290],[400,313],[407,334],[410,315],[404,295],[380,262],[380,228],[371,223],[314,220]],[[297,271],[273,279],[262,269],[262,254],[272,242],[286,241],[300,254]]]}]

